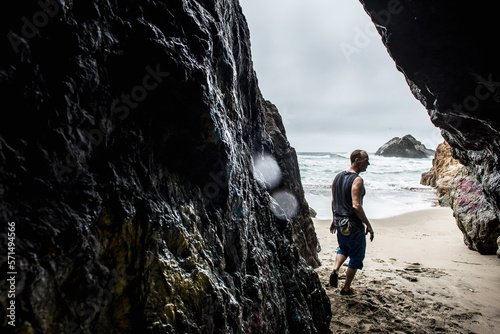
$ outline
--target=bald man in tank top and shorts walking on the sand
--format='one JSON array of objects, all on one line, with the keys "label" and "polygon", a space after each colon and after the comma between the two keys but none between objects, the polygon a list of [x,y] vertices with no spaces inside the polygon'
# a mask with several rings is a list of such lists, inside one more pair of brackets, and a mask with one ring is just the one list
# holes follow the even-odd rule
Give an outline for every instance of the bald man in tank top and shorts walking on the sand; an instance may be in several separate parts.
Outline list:
[{"label": "bald man in tank top and shorts walking on the sand", "polygon": [[344,287],[340,290],[341,295],[356,294],[351,288],[351,283],[356,272],[363,269],[368,233],[370,241],[373,241],[373,229],[363,210],[365,186],[359,176],[369,165],[368,154],[362,150],[355,150],[351,153],[351,168],[337,174],[332,183],[333,222],[330,232],[337,232],[339,250],[335,258],[335,267],[330,275],[331,286],[337,287],[340,267],[348,257],[350,259]]}]

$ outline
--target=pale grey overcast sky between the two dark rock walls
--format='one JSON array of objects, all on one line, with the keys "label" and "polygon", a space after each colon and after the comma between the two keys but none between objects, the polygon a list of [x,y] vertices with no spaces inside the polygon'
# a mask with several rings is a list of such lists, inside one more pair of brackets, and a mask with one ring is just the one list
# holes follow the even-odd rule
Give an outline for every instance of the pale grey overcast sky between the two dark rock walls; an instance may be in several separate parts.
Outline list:
[{"label": "pale grey overcast sky between the two dark rock walls", "polygon": [[265,99],[298,152],[443,141],[358,0],[240,0]]}]

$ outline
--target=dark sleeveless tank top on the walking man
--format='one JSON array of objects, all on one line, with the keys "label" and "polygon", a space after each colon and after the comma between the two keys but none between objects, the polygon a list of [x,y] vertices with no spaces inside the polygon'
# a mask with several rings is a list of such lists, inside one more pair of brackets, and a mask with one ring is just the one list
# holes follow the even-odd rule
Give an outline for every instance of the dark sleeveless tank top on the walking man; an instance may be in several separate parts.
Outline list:
[{"label": "dark sleeveless tank top on the walking man", "polygon": [[333,180],[333,212],[335,220],[343,217],[351,218],[351,222],[355,228],[363,229],[363,222],[358,218],[354,208],[352,207],[352,184],[358,177],[358,174],[353,172],[340,172]]}]

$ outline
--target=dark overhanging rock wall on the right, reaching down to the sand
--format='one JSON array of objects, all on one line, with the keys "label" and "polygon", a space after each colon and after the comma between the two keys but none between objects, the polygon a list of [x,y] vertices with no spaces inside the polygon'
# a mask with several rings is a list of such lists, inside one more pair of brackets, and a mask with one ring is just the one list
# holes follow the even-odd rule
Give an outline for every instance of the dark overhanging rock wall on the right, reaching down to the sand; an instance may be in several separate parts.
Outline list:
[{"label": "dark overhanging rock wall on the right, reaching down to the sand", "polygon": [[[481,244],[482,252],[493,253],[497,248],[493,240],[500,236],[500,69],[491,42],[496,31],[494,4],[361,3],[413,94],[441,128],[453,157],[464,165],[474,184],[469,187],[468,181],[462,182],[458,198],[463,194],[464,201],[472,203],[468,194],[474,188],[474,198],[481,197],[490,208],[487,232],[475,234],[471,242]],[[464,223],[457,219],[459,225]],[[485,227],[473,214],[471,219],[474,228]]]}]

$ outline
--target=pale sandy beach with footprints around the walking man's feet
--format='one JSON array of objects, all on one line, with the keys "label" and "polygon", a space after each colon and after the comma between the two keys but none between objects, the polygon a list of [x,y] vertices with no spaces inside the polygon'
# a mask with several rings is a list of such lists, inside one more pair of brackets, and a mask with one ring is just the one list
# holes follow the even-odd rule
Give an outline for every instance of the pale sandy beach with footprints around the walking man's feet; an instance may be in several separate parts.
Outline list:
[{"label": "pale sandy beach with footprints around the walking man's feet", "polygon": [[346,264],[339,288],[329,286],[337,236],[331,220],[314,219],[334,333],[500,333],[500,259],[465,246],[451,209],[370,221],[375,239],[352,285],[358,295],[341,296]]}]

